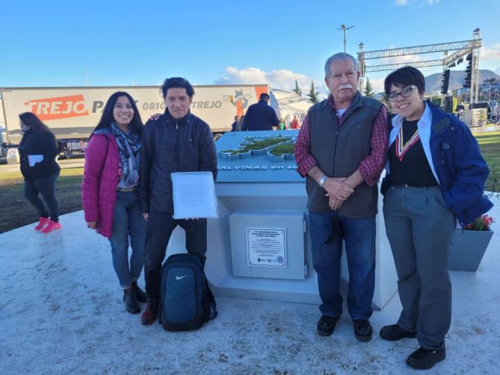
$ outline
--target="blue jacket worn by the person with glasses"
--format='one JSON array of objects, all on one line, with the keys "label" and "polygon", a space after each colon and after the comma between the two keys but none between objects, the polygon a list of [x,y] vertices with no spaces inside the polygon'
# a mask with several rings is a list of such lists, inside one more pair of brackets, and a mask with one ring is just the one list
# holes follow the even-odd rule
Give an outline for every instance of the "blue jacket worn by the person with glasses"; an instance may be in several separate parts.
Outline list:
[{"label": "blue jacket worn by the person with glasses", "polygon": [[[428,101],[426,105],[431,114],[431,131],[428,140],[419,131],[422,145],[425,151],[424,142],[429,142],[431,169],[437,175],[444,203],[455,213],[458,223],[465,226],[493,206],[483,194],[490,170],[467,125]],[[397,120],[393,119],[392,124],[395,122]],[[389,187],[390,177],[387,176],[382,183],[382,192]]]}]

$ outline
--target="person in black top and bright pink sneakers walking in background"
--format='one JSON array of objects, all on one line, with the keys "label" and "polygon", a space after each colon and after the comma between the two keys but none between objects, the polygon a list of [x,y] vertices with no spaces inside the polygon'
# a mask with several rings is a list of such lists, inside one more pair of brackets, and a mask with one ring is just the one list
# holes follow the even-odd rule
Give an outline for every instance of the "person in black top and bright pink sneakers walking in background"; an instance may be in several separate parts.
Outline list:
[{"label": "person in black top and bright pink sneakers walking in background", "polygon": [[[56,199],[56,181],[60,167],[56,162],[56,136],[31,112],[19,115],[24,135],[19,143],[21,173],[24,177],[24,197],[35,206],[40,217],[36,231],[49,233],[61,228]],[[47,208],[40,199],[42,195]]]}]

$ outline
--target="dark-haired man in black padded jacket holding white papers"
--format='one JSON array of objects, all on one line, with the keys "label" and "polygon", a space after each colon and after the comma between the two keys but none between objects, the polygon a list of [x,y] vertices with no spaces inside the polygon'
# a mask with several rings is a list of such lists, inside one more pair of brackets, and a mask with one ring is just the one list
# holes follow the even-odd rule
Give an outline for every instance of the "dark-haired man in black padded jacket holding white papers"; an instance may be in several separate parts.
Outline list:
[{"label": "dark-haired man in black padded jacket holding white papers", "polygon": [[157,120],[149,120],[142,133],[139,198],[147,219],[144,278],[148,303],[142,324],[158,317],[160,275],[167,244],[176,226],[186,232],[186,249],[205,265],[206,219],[176,220],[172,200],[172,172],[212,172],[217,176],[217,154],[210,126],[190,113],[194,95],[184,78],[167,78],[162,87],[167,106]]}]

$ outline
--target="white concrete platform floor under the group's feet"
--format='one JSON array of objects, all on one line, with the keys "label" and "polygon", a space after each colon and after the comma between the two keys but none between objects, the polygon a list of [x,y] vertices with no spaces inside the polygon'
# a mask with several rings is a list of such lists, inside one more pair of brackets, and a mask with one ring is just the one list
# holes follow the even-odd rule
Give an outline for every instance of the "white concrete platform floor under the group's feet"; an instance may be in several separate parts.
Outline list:
[{"label": "white concrete platform floor under the group's feet", "polygon": [[[428,374],[499,373],[494,203],[499,223],[478,272],[451,272],[447,360]],[[33,225],[0,235],[0,374],[415,373],[405,359],[416,340],[358,342],[345,312],[331,337],[319,337],[313,304],[218,298],[219,317],[199,331],[142,326],[124,310],[107,240],[86,228],[82,212],[61,222],[48,235]],[[400,308],[396,295],[374,313],[374,329],[396,322]]]}]

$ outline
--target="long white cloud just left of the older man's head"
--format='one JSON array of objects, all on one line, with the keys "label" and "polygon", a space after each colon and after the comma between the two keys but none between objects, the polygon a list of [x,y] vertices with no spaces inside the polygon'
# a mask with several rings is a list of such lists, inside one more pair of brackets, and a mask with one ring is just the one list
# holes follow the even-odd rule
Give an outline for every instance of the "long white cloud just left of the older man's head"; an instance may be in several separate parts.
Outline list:
[{"label": "long white cloud just left of the older man's head", "polygon": [[[272,88],[282,90],[292,90],[295,87],[295,80],[299,84],[302,92],[310,88],[310,82],[313,78],[304,74],[295,73],[286,69],[275,69],[270,72],[264,72],[256,67],[247,67],[238,69],[235,67],[226,67],[224,76],[215,81],[217,85],[238,85],[238,84],[256,84],[267,83]],[[317,85],[317,80],[315,85]],[[319,83],[320,85],[321,83]]]}]

